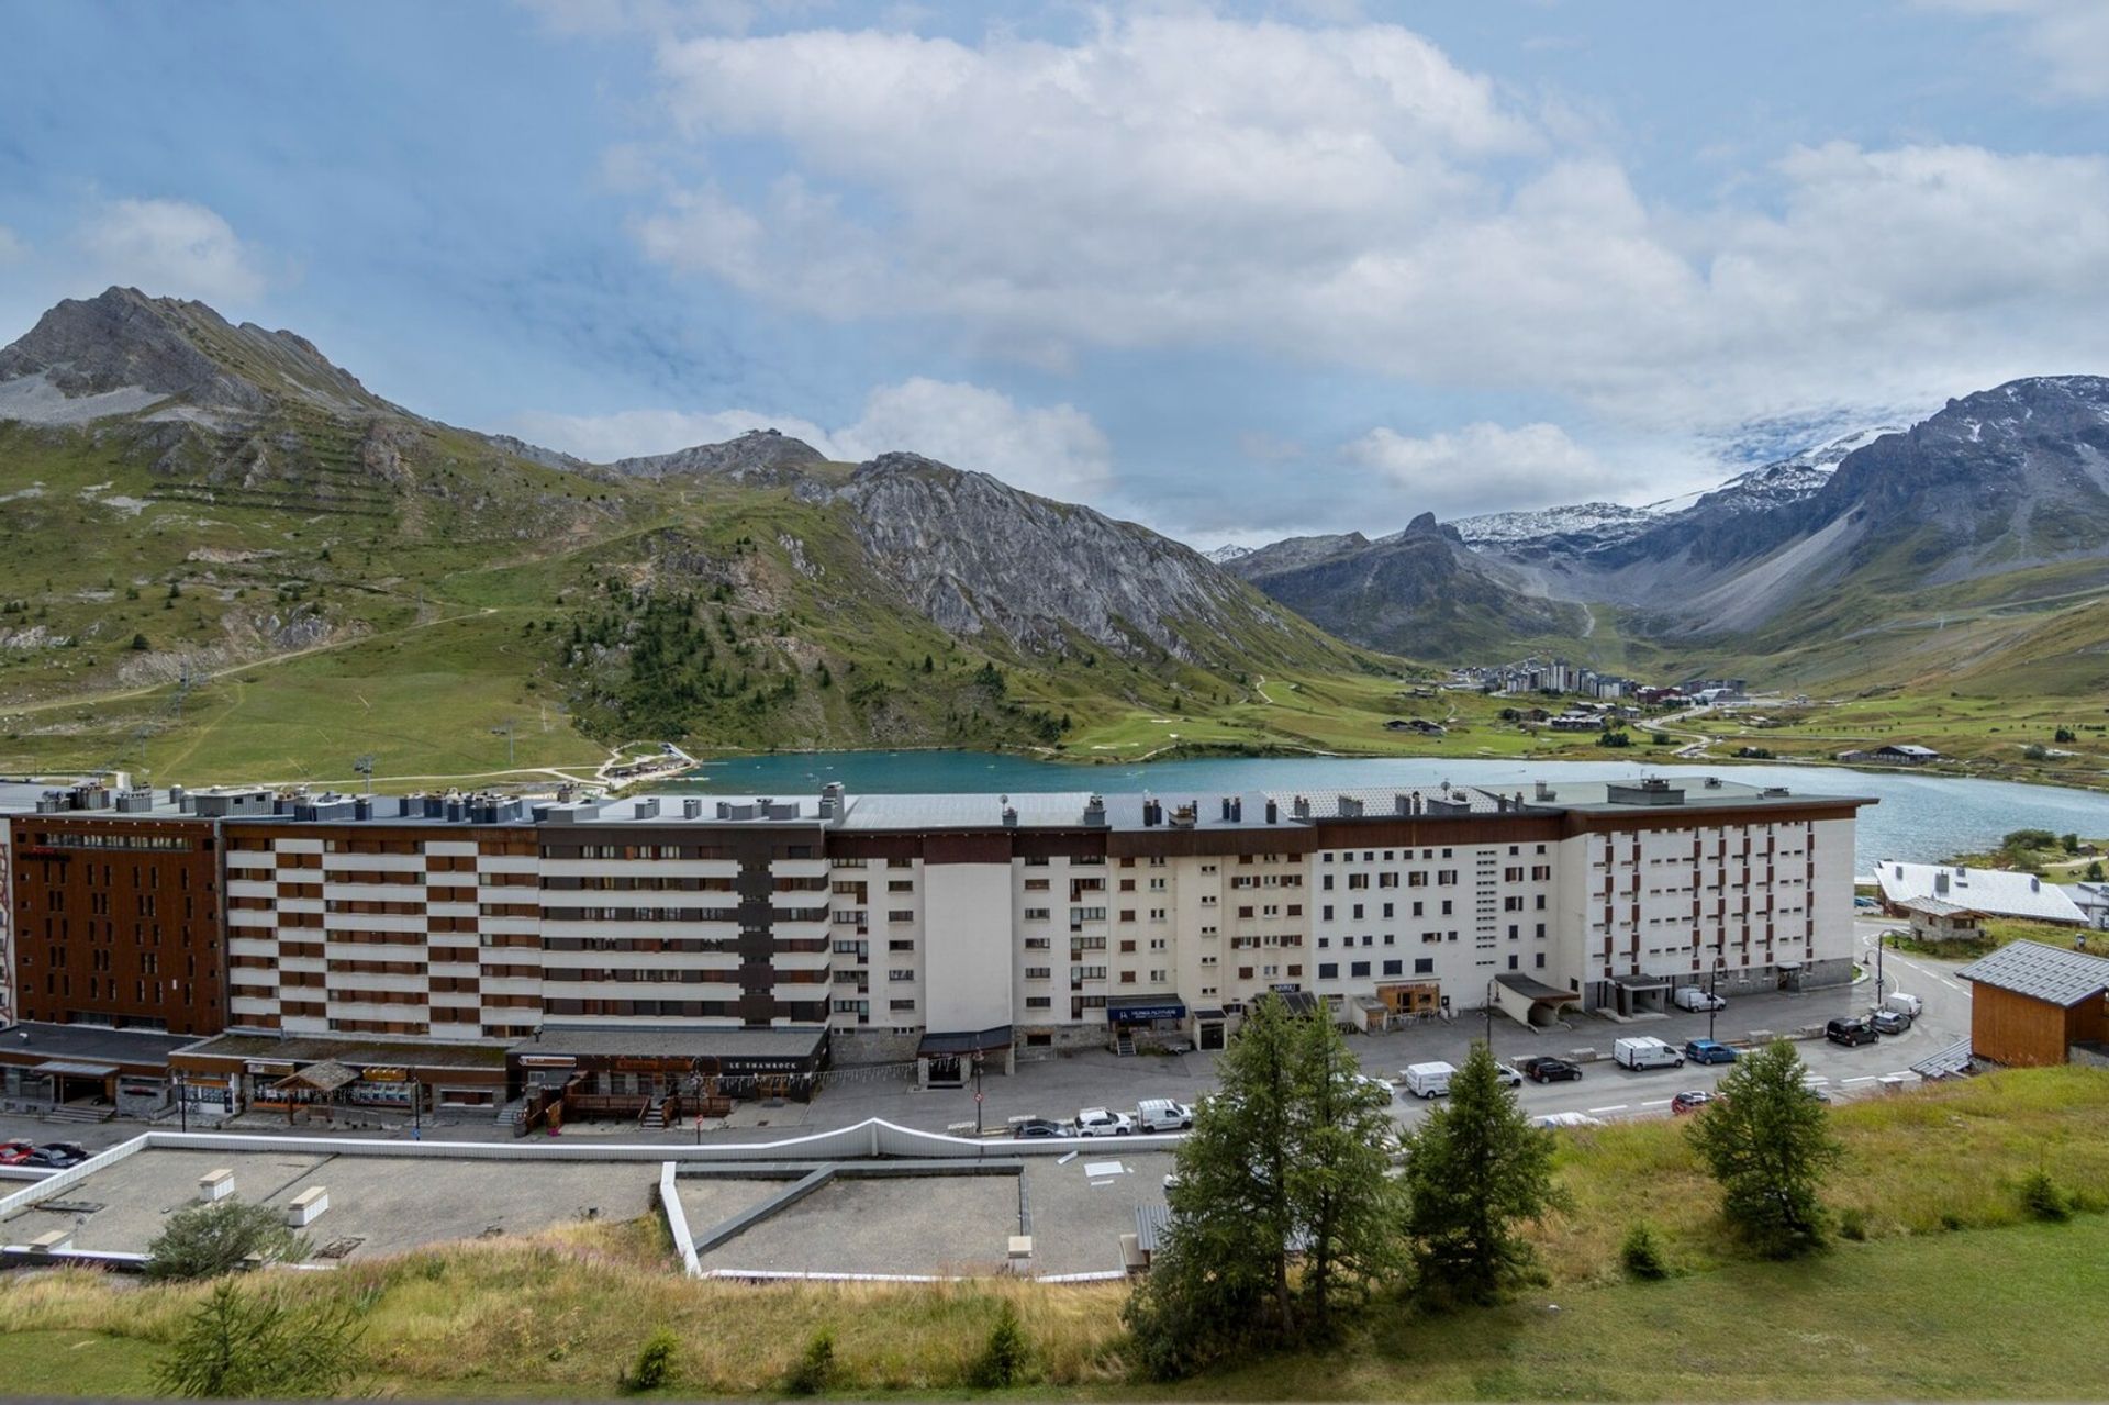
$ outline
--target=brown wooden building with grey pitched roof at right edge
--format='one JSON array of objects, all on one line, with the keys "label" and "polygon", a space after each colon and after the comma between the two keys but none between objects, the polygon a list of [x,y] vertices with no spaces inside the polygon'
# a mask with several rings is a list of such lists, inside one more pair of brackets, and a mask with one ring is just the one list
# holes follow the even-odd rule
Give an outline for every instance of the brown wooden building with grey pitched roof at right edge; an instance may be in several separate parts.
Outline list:
[{"label": "brown wooden building with grey pitched roof at right edge", "polygon": [[2109,1038],[2109,960],[2014,941],[1957,970],[1970,981],[1970,1053],[2012,1067],[2069,1063]]}]

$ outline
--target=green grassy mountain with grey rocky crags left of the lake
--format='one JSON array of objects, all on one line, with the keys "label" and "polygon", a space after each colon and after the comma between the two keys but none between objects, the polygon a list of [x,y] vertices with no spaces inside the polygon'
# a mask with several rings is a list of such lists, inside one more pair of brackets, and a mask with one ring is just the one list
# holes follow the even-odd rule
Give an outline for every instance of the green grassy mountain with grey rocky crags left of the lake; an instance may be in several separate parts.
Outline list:
[{"label": "green grassy mountain with grey rocky crags left of the lake", "polygon": [[755,437],[593,468],[124,289],[0,352],[11,407],[6,772],[342,781],[373,753],[382,776],[466,776],[631,738],[1061,747],[1249,700],[1261,673],[1390,667],[1175,542],[981,475],[795,441],[751,473]]}]

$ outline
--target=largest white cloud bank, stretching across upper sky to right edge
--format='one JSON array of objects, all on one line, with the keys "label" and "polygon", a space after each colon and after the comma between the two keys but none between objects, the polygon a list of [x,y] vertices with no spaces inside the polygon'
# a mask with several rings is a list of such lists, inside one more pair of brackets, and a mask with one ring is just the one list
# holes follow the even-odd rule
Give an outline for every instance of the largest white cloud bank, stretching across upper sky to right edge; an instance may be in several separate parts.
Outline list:
[{"label": "largest white cloud bank, stretching across upper sky to right edge", "polygon": [[1685,435],[2109,359],[2101,156],[1831,143],[1681,209],[1407,30],[1185,11],[666,40],[660,78],[675,148],[789,156],[759,192],[669,167],[643,247],[829,319],[1240,346]]}]

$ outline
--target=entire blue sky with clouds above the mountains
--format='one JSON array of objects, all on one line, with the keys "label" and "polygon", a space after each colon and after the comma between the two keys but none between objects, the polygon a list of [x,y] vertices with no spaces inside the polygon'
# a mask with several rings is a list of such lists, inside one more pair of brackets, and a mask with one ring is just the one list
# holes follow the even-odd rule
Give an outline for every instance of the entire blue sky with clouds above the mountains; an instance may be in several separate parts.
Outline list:
[{"label": "entire blue sky with clouds above the mountains", "polygon": [[112,283],[593,460],[1196,546],[1645,504],[2109,373],[2105,0],[0,0],[0,342]]}]

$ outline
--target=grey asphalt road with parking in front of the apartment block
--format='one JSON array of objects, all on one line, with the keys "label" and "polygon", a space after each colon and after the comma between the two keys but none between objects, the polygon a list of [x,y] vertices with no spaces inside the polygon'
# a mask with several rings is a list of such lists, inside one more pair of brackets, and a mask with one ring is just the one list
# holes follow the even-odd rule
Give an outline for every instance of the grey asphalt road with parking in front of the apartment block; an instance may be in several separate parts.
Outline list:
[{"label": "grey asphalt road with parking in front of the apartment block", "polygon": [[[1890,922],[1858,922],[1856,941],[1869,962],[1873,962],[1875,935],[1890,930]],[[1926,1000],[1923,1015],[1907,1034],[1883,1038],[1860,1048],[1841,1048],[1822,1038],[1801,1040],[1799,1051],[1810,1065],[1810,1082],[1826,1089],[1833,1097],[1879,1095],[1885,1074],[1907,1074],[1909,1067],[1970,1032],[1970,992],[1955,981],[1953,962],[1936,962],[1917,956],[1883,951],[1883,985],[1890,992],[1904,989]],[[1801,996],[1763,994],[1744,996],[1729,1002],[1713,1021],[1713,1036],[1740,1040],[1753,1032],[1795,1034],[1805,1027],[1820,1027],[1841,1015],[1864,1015],[1875,1004],[1875,979],[1869,973],[1854,985],[1810,992]],[[1521,1099],[1531,1114],[1582,1112],[1599,1118],[1622,1116],[1666,1116],[1670,1097],[1685,1089],[1710,1089],[1727,1072],[1725,1065],[1685,1065],[1681,1070],[1630,1072],[1611,1063],[1611,1042],[1622,1036],[1653,1034],[1668,1044],[1683,1046],[1689,1038],[1708,1036],[1708,1017],[1677,1011],[1660,1019],[1618,1023],[1597,1015],[1575,1015],[1569,1027],[1533,1032],[1495,1017],[1493,1051],[1504,1061],[1531,1055],[1567,1057],[1575,1051],[1592,1051],[1594,1061],[1584,1063],[1578,1082],[1523,1084]],[[1449,1023],[1415,1025],[1379,1036],[1352,1036],[1350,1048],[1362,1067],[1384,1078],[1396,1078],[1409,1063],[1443,1059],[1462,1063],[1472,1040],[1487,1036],[1487,1023],[1478,1015],[1457,1017]],[[1050,1116],[1073,1118],[1082,1108],[1133,1110],[1145,1097],[1173,1097],[1194,1101],[1215,1086],[1213,1053],[1187,1053],[1166,1057],[1114,1057],[1107,1051],[1090,1048],[1057,1059],[1023,1061],[1014,1076],[991,1074],[983,1078],[981,1127],[1000,1131],[1008,1118]],[[1400,1122],[1415,1122],[1426,1116],[1426,1103],[1415,1097],[1398,1097],[1394,1116]],[[972,1131],[976,1122],[972,1089],[917,1091],[907,1078],[841,1078],[812,1103],[785,1103],[780,1108],[742,1105],[738,1124],[709,1129],[700,1135],[694,1129],[669,1129],[645,1133],[631,1124],[574,1124],[565,1129],[565,1139],[578,1141],[605,1137],[624,1143],[704,1143],[711,1141],[772,1141],[795,1137],[831,1127],[852,1127],[865,1118],[886,1118],[901,1127],[922,1131]],[[156,1122],[158,1129],[175,1129],[173,1118]],[[137,1120],[114,1120],[101,1124],[49,1122],[36,1116],[0,1116],[0,1139],[23,1137],[30,1141],[78,1141],[84,1148],[101,1150],[127,1141],[143,1129]],[[251,1135],[272,1135],[272,1127],[240,1127]],[[316,1129],[302,1127],[297,1135],[318,1135]],[[327,1131],[321,1135],[329,1135]],[[394,1131],[348,1133],[361,1137],[403,1137],[409,1127]],[[441,1114],[428,1118],[422,1131],[426,1141],[510,1141],[510,1131],[500,1127],[489,1114]],[[0,1192],[6,1190],[0,1181]]]}]

